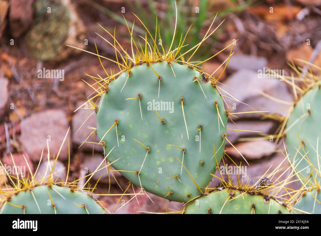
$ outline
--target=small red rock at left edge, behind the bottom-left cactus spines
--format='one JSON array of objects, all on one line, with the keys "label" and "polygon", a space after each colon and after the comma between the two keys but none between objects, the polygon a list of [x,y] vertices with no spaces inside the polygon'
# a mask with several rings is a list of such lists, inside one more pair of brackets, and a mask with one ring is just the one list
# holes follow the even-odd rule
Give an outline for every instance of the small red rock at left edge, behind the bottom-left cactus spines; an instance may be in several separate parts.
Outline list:
[{"label": "small red rock at left edge, behind the bottom-left cactus spines", "polygon": [[13,164],[10,154],[5,155],[2,160],[2,163],[9,175],[16,177],[16,170],[17,170],[17,172],[21,177],[27,178],[28,175],[29,177],[31,177],[30,170],[23,156],[26,158],[29,164],[30,170],[33,171],[33,164],[30,160],[28,153],[12,153],[12,158],[15,165]]}]

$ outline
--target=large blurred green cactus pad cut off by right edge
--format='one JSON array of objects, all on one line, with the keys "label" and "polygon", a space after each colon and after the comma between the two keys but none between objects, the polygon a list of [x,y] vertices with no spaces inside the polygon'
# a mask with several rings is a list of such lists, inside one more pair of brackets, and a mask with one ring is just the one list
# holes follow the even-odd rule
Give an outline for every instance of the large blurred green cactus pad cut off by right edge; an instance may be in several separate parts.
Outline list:
[{"label": "large blurred green cactus pad cut off by right edge", "polygon": [[[312,166],[318,165],[318,157],[315,150],[317,150],[317,146],[319,148],[321,146],[320,101],[321,89],[320,86],[316,85],[298,101],[287,122],[287,127],[290,127],[286,134],[288,153],[290,157],[295,157],[296,163],[299,163],[297,170],[302,170],[300,173],[305,178],[309,178]],[[305,154],[301,148],[299,137],[304,151],[308,155],[308,158],[305,157],[302,161],[300,161],[302,155],[304,156]],[[318,138],[319,143],[317,144]]]}]

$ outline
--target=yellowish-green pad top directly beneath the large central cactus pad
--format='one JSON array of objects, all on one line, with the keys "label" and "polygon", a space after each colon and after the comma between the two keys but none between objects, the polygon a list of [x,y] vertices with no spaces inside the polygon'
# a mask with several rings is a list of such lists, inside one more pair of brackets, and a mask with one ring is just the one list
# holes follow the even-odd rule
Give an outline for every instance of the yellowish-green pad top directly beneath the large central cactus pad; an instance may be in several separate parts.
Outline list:
[{"label": "yellowish-green pad top directly beneath the large central cactus pad", "polygon": [[250,195],[247,192],[242,194],[238,190],[227,189],[213,191],[208,196],[188,203],[185,214],[220,214],[220,212],[221,214],[290,214],[285,206],[267,195]]}]

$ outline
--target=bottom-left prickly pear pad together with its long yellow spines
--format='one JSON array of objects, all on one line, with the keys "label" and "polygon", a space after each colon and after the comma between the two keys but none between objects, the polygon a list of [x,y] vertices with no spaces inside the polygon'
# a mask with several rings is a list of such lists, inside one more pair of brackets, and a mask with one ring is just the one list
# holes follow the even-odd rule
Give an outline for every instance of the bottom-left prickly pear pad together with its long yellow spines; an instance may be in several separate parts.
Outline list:
[{"label": "bottom-left prickly pear pad together with its long yellow spines", "polygon": [[[65,143],[68,132],[69,129],[60,150]],[[69,142],[68,149],[70,149]],[[50,153],[49,148],[48,153]],[[96,171],[82,178],[89,177],[85,183],[82,183],[81,179],[68,182],[70,170],[70,152],[68,152],[68,172],[65,181],[61,182],[63,180],[58,180],[54,175],[59,153],[60,151],[54,162],[47,162],[46,173],[39,180],[35,178],[38,168],[35,173],[32,173],[30,170],[32,163],[28,163],[27,159],[25,161],[30,175],[24,177],[19,175],[19,172],[16,172],[15,176],[10,175],[0,160],[0,167],[5,170],[11,185],[10,187],[6,186],[5,189],[0,187],[0,194],[4,196],[0,199],[0,214],[104,214],[108,211],[98,201],[97,195],[93,193],[98,181],[94,188],[90,186],[89,181],[97,171],[108,168],[109,165],[100,168],[101,162]],[[11,158],[15,163],[12,155]],[[40,162],[41,159],[42,156]],[[70,177],[72,176],[70,175]]]}]

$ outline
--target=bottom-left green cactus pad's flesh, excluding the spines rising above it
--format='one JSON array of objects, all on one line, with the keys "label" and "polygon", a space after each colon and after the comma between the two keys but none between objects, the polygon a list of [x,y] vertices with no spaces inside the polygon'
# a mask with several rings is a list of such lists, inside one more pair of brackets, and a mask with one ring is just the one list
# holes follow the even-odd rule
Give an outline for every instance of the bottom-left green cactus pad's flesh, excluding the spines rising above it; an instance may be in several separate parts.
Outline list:
[{"label": "bottom-left green cactus pad's flesh, excluding the spines rising above it", "polygon": [[[21,206],[24,206],[24,209]],[[51,188],[48,185],[40,185],[31,190],[21,190],[4,202],[0,213],[55,214],[55,209],[56,214],[105,213],[105,210],[92,197],[80,191],[71,191],[70,188],[56,185],[52,185]]]}]

